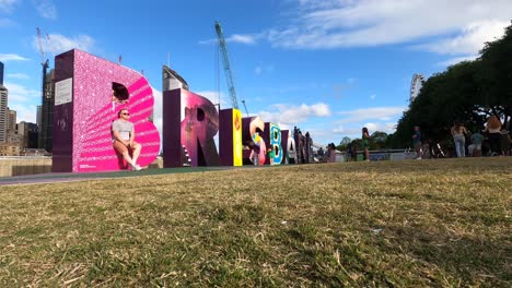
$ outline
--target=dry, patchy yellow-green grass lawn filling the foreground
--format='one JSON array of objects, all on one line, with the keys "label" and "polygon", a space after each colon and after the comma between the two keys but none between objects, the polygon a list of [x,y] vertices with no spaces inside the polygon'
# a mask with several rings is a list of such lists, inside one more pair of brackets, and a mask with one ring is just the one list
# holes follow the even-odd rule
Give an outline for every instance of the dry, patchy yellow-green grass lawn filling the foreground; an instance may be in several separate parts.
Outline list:
[{"label": "dry, patchy yellow-green grass lawn filling the foreground", "polygon": [[511,185],[496,157],[1,187],[0,286],[511,287]]}]

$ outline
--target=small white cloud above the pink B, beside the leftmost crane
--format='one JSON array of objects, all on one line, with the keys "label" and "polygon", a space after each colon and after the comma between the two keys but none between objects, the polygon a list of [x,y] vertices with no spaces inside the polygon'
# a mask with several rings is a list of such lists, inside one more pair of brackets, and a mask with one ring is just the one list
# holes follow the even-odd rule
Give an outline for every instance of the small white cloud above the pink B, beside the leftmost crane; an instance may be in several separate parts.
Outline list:
[{"label": "small white cloud above the pink B, beside the leftmost crane", "polygon": [[[66,37],[60,34],[49,34],[48,37],[42,41],[42,45],[45,52],[53,55],[59,55],[74,48],[83,51],[91,51],[91,49],[94,47],[94,39],[89,35]],[[33,38],[32,46],[34,49],[39,51],[37,37]]]}]

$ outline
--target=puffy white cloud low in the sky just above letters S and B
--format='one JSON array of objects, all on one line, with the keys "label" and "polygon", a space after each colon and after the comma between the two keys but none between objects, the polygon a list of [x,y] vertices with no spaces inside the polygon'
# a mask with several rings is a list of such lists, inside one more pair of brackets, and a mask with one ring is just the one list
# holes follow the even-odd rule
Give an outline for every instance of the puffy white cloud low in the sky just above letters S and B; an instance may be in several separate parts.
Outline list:
[{"label": "puffy white cloud low in the sky just above letters S and B", "polygon": [[301,106],[276,104],[270,106],[270,111],[257,113],[265,122],[278,123],[281,127],[304,122],[312,117],[328,117],[331,115],[329,106],[324,103]]}]

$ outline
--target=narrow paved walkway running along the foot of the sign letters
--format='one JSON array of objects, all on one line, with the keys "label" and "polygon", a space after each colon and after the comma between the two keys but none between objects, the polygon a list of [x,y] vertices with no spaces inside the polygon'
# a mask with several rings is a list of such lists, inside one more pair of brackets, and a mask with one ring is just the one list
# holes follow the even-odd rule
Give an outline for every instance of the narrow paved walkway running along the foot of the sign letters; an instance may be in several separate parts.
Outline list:
[{"label": "narrow paved walkway running along the foot of the sign letters", "polygon": [[[54,182],[72,182],[84,181],[102,178],[118,178],[118,177],[139,177],[150,175],[165,175],[165,173],[187,173],[187,172],[201,172],[201,171],[216,171],[228,170],[234,168],[249,168],[248,167],[182,167],[182,168],[154,168],[144,169],[140,171],[112,171],[112,172],[86,172],[86,173],[38,173],[38,175],[24,175],[13,177],[1,177],[0,185],[12,184],[34,184],[34,183],[54,183]],[[254,166],[252,166],[254,167]]]}]

